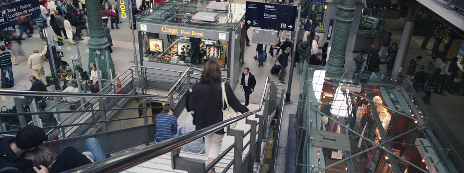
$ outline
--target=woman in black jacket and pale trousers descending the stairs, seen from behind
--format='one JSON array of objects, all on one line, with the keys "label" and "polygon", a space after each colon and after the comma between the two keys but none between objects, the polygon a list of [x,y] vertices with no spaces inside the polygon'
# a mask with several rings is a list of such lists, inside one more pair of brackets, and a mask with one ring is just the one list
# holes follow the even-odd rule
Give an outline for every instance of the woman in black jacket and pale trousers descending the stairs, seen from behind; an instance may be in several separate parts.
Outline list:
[{"label": "woman in black jacket and pale trousers descending the stairs, seen from behind", "polygon": [[[227,101],[235,111],[254,113],[238,101],[237,97],[233,94],[232,87],[228,83],[225,84],[225,90]],[[197,83],[192,88],[189,108],[195,111],[193,124],[195,124],[196,130],[204,129],[223,121],[222,110],[224,102],[222,100],[221,70],[216,61],[208,61],[205,64],[200,83]],[[205,136],[208,164],[219,155],[224,133],[225,131],[221,129]],[[210,173],[214,173],[214,171],[211,170]]]}]

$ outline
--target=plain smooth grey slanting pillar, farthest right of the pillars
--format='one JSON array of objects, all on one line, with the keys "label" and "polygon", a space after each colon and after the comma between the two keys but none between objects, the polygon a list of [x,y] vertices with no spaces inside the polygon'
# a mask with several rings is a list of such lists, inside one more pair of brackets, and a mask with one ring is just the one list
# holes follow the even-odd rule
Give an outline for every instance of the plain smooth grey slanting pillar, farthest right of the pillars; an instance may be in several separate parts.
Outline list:
[{"label": "plain smooth grey slanting pillar, farthest right of the pillars", "polygon": [[420,4],[416,0],[408,3],[408,16],[404,23],[403,33],[401,34],[400,45],[398,45],[398,53],[396,55],[395,65],[393,65],[392,75],[393,77],[400,77],[404,65],[404,59],[406,58],[409,43],[411,43],[412,32],[414,30],[414,19],[419,12]]}]

